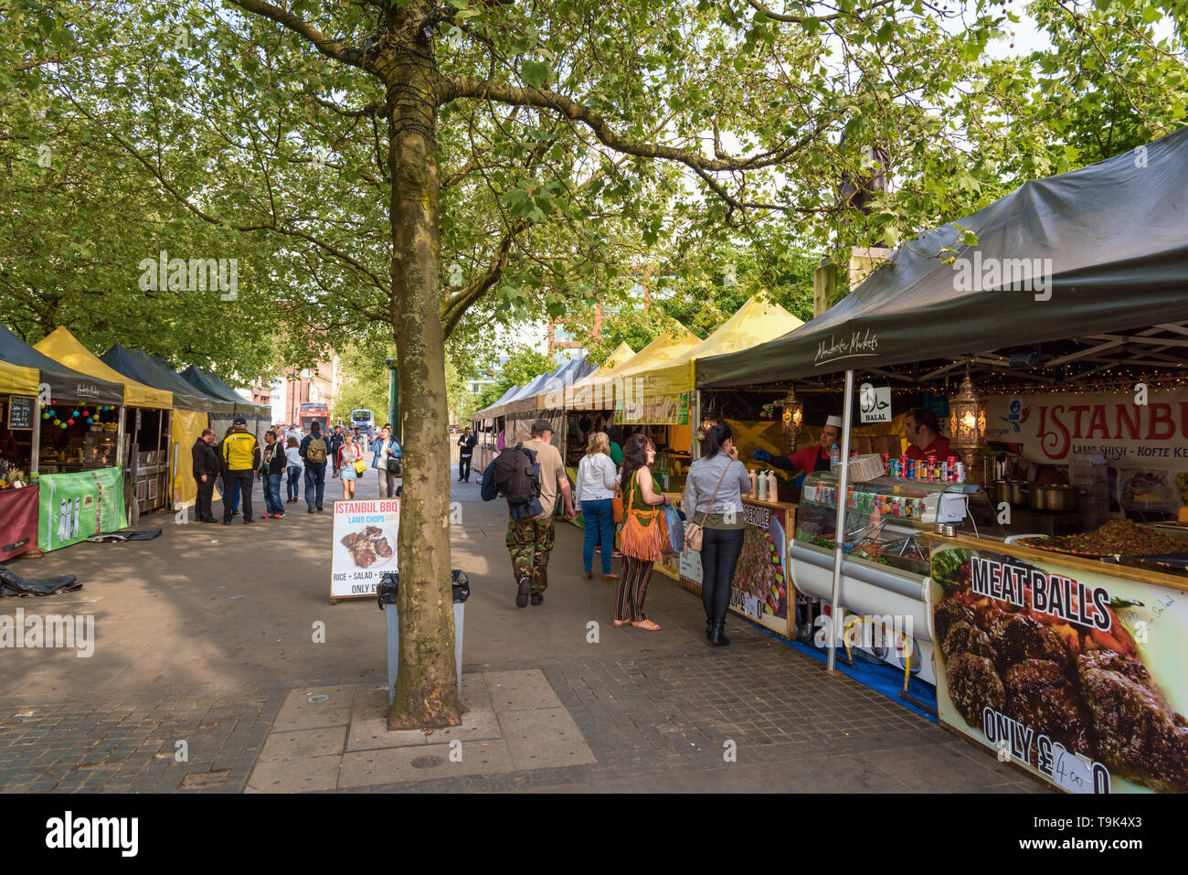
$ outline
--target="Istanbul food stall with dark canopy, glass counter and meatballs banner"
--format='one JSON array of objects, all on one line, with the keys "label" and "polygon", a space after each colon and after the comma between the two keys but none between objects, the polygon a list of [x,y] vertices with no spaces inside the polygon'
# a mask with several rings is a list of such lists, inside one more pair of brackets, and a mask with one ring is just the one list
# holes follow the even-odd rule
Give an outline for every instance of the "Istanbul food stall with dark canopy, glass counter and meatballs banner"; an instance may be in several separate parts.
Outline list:
[{"label": "Istanbul food stall with dark canopy, glass counter and meatballs banner", "polygon": [[[1188,774],[1188,130],[1143,149],[923,234],[810,325],[699,370],[702,388],[843,379],[797,588],[833,632],[847,611],[911,617],[916,646],[890,649],[930,662],[942,724],[1079,792]],[[895,386],[948,398],[956,455],[849,462],[855,414],[895,414]]]}]

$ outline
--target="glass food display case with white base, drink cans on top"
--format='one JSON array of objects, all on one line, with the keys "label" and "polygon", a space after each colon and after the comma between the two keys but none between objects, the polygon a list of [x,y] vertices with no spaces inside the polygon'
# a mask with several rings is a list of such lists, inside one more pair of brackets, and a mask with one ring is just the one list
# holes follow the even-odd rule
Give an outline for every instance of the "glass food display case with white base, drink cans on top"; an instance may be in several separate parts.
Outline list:
[{"label": "glass food display case with white base, drink cans on top", "polygon": [[[809,474],[796,517],[791,568],[797,592],[822,605],[833,593],[836,514],[838,476]],[[840,603],[847,616],[842,629],[833,631],[832,618],[815,612],[814,625],[826,636],[840,636],[853,622],[861,630],[852,632],[860,649],[899,669],[910,651],[912,674],[935,684],[929,549],[923,535],[939,525],[950,535],[1005,539],[990,498],[975,484],[890,477],[849,484],[840,539],[845,554]]]}]

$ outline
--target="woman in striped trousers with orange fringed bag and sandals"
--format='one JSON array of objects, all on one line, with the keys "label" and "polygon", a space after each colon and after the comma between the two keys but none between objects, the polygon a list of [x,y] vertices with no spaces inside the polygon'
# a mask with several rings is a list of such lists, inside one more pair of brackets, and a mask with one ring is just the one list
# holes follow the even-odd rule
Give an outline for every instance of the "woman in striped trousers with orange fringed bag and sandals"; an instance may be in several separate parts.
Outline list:
[{"label": "woman in striped trousers with orange fringed bag and sandals", "polygon": [[655,460],[656,445],[645,435],[634,434],[627,439],[619,481],[624,495],[623,567],[614,599],[615,625],[631,623],[650,632],[659,631],[661,627],[644,613],[644,598],[652,579],[652,565],[659,560],[665,539],[664,516],[656,508],[669,503],[666,496],[652,489],[650,466]]}]

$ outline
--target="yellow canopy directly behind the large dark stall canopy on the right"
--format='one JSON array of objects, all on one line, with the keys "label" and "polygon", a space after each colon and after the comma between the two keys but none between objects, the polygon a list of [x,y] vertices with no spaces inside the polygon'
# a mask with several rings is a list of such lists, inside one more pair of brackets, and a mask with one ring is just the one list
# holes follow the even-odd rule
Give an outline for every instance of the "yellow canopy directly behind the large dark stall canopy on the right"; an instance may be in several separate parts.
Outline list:
[{"label": "yellow canopy directly behind the large dark stall canopy on the right", "polygon": [[[696,388],[697,359],[747,350],[804,325],[783,307],[756,295],[713,334],[665,363],[627,364],[619,376],[631,384],[634,398],[615,402],[615,422],[689,424],[689,396]],[[632,403],[633,402],[633,403]]]}]

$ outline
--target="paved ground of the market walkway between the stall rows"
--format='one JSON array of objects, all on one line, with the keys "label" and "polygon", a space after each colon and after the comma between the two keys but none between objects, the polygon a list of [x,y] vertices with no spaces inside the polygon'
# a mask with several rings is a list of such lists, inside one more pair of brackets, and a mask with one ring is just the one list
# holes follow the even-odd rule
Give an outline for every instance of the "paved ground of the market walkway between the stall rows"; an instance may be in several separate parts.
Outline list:
[{"label": "paved ground of the market walkway between the stall rows", "polygon": [[[384,615],[373,598],[329,604],[328,479],[323,514],[153,514],[138,525],[162,528],[153,541],[13,562],[84,586],[0,613],[94,615],[95,650],[4,653],[0,792],[1043,789],[742,621],[712,647],[700,599],[659,574],[662,631],[615,629],[614,583],[598,558],[582,579],[573,525],[558,524],[544,604],[516,608],[506,505],[474,480],[453,484],[454,567],[472,586],[462,726],[384,729]],[[259,484],[254,499],[259,515]]]}]

